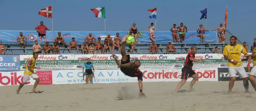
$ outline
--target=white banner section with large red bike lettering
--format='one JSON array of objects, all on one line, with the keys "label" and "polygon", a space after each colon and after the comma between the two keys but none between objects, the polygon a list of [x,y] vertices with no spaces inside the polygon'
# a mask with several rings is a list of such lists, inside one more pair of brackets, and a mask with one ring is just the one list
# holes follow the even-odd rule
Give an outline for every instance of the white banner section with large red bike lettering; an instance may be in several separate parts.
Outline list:
[{"label": "white banner section with large red bike lettering", "polygon": [[[1,72],[0,85],[20,85],[23,82],[24,71]],[[26,84],[33,84],[35,81],[30,79]]]}]

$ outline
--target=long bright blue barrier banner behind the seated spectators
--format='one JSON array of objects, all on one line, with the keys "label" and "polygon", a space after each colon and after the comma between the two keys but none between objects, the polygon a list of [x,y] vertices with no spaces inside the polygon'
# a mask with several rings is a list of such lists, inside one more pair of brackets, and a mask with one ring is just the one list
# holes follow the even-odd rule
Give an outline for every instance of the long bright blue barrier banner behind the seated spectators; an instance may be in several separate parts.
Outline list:
[{"label": "long bright blue barrier banner behind the seated spectators", "polygon": [[[34,44],[35,41],[39,41],[37,31],[16,31],[16,30],[0,30],[0,41],[4,44],[15,44],[17,43],[17,37],[19,36],[20,32],[26,36],[27,44]],[[116,33],[119,33],[119,36],[124,37],[128,34],[128,31],[61,31],[62,35],[66,43],[68,44],[69,41],[72,41],[72,37],[75,38],[75,41],[78,44],[83,44],[84,39],[89,33],[92,33],[92,36],[98,40],[101,37],[101,40],[104,41],[105,37],[108,34],[111,34],[112,40],[116,36]],[[186,37],[184,38],[184,43],[200,43],[200,37],[197,36],[197,31],[188,31],[185,32]],[[46,38],[47,41],[52,44],[54,42],[55,37],[58,35],[58,31],[46,31]],[[138,42],[141,43],[151,43],[149,32],[145,31],[142,32],[142,37],[137,38]],[[168,41],[173,41],[173,36],[170,31],[157,31],[155,33],[155,41],[156,43],[168,43]],[[213,32],[205,32],[205,43],[218,43],[218,35],[217,31]]]}]

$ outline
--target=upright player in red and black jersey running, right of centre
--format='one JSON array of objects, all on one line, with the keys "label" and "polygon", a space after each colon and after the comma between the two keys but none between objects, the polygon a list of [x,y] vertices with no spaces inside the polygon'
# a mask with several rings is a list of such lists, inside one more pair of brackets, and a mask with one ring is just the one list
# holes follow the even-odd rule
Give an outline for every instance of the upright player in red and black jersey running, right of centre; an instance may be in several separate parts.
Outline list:
[{"label": "upright player in red and black jersey running, right of centre", "polygon": [[181,70],[181,72],[182,72],[181,81],[173,93],[176,93],[186,83],[188,77],[192,77],[193,80],[191,81],[189,89],[187,91],[189,91],[189,92],[192,91],[193,85],[198,80],[198,75],[192,70],[193,62],[202,63],[202,62],[206,61],[206,60],[204,60],[204,61],[196,60],[195,59],[196,52],[197,52],[197,47],[192,47],[191,53],[188,53],[188,55],[186,57],[186,61],[184,62],[184,67]]}]

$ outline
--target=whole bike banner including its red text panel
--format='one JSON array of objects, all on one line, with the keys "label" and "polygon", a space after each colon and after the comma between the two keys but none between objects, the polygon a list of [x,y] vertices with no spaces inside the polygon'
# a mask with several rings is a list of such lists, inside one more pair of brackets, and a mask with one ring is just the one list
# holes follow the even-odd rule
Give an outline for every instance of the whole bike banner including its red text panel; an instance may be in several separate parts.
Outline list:
[{"label": "whole bike banner including its red text panel", "polygon": [[[52,84],[52,71],[35,71],[39,76],[39,85]],[[0,72],[0,86],[20,85],[23,82],[24,71]],[[35,80],[29,79],[27,85],[33,85]]]}]

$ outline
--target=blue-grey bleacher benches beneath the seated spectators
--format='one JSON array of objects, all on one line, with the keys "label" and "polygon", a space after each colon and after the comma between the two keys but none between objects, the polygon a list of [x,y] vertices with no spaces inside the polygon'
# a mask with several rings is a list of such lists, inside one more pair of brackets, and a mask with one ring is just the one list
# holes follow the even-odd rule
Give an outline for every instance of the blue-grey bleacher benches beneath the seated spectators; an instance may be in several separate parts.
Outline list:
[{"label": "blue-grey bleacher benches beneath the seated spectators", "polygon": [[[166,53],[166,46],[168,43],[165,44],[157,44],[158,46],[158,50],[160,53]],[[25,48],[20,48],[19,44],[3,44],[4,46],[7,47],[7,51],[6,54],[28,54],[30,51],[32,51],[32,46],[34,44],[26,44]],[[45,44],[40,44],[40,46],[43,48]],[[51,46],[53,46],[53,44],[49,44]],[[175,49],[176,49],[176,53],[187,53],[188,49],[191,48],[191,46],[196,46],[198,48],[198,52],[201,53],[209,53],[212,50],[214,50],[215,47],[218,47],[219,50],[222,50],[222,48],[224,47],[224,44],[220,44],[220,43],[178,43],[178,44],[173,44]],[[149,46],[150,44],[136,44],[135,46],[135,53],[148,53],[149,51]],[[65,48],[62,49],[62,45],[59,45],[60,47],[60,53],[69,53],[69,46],[66,45]],[[81,44],[78,44],[78,48],[79,48],[79,53],[81,53]],[[131,50],[129,48],[128,45],[126,45],[125,47],[126,50]],[[76,53],[76,49],[72,49],[71,51],[72,53]],[[109,51],[108,51],[109,53]],[[118,54],[119,51],[118,50],[114,50],[114,53]]]}]

